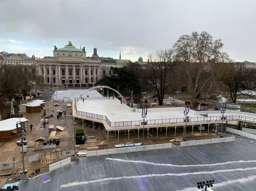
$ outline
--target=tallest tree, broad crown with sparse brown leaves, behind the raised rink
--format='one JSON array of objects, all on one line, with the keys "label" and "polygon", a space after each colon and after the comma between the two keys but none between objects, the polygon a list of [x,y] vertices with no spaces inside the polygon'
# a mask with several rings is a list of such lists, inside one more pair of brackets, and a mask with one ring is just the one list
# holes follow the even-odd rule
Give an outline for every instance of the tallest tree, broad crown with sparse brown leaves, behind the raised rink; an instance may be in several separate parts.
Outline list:
[{"label": "tallest tree, broad crown with sparse brown leaves, behind the raised rink", "polygon": [[229,61],[228,55],[221,52],[222,47],[221,39],[213,40],[205,31],[182,35],[173,46],[175,58],[181,62],[193,108],[202,89],[208,86],[210,91],[215,79],[222,74],[221,63]]}]

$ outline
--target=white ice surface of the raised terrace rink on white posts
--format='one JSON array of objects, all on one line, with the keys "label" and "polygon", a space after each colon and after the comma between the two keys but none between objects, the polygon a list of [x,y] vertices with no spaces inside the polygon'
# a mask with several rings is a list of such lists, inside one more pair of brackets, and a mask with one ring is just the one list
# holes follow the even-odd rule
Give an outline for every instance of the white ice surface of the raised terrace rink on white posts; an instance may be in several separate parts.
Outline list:
[{"label": "white ice surface of the raised terrace rink on white posts", "polygon": [[[105,115],[111,122],[142,120],[141,112],[132,112],[129,107],[117,99],[108,100],[79,100],[76,104],[77,111]],[[159,108],[160,109],[160,108]],[[177,111],[147,112],[146,120],[184,118],[183,107]],[[189,113],[189,117],[203,117]]]}]

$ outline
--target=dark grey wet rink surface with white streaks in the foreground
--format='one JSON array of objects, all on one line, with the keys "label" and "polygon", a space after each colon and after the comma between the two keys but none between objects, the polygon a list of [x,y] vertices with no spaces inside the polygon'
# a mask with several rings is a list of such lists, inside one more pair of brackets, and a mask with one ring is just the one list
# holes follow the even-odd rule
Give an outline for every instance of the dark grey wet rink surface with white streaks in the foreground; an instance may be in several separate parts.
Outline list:
[{"label": "dark grey wet rink surface with white streaks in the foreground", "polygon": [[[235,142],[80,158],[78,163],[19,183],[19,190],[196,191],[215,180],[214,191],[255,190],[256,142]],[[111,159],[111,160],[110,160]],[[45,182],[45,177],[51,177]]]}]

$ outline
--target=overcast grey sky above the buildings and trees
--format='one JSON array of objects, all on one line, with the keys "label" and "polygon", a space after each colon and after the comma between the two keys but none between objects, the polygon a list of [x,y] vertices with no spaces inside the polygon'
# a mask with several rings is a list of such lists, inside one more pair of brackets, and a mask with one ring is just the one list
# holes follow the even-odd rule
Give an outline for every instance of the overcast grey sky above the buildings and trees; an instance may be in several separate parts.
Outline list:
[{"label": "overcast grey sky above the buildings and trees", "polygon": [[0,50],[53,56],[54,45],[85,46],[87,56],[132,61],[171,48],[183,34],[223,39],[237,61],[256,61],[253,0],[8,0],[0,4]]}]

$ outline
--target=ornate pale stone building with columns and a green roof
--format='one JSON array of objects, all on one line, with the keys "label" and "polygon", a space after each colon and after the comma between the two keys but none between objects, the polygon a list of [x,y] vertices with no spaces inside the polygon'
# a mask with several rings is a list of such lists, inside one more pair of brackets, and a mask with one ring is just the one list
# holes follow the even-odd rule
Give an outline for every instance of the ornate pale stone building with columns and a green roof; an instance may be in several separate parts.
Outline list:
[{"label": "ornate pale stone building with columns and a green roof", "polygon": [[63,48],[54,46],[53,57],[37,58],[37,73],[43,84],[68,84],[69,86],[90,87],[104,75],[111,75],[110,67],[123,67],[129,60],[99,57],[97,49],[88,57],[85,47],[78,49],[69,43]]}]

